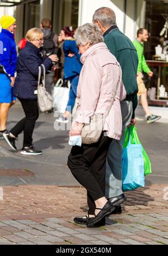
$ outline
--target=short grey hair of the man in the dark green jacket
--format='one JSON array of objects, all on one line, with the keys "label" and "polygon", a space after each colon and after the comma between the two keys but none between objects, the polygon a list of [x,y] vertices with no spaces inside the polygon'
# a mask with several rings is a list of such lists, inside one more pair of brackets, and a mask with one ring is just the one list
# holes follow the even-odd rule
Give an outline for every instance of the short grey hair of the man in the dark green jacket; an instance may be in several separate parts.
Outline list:
[{"label": "short grey hair of the man in the dark green jacket", "polygon": [[96,23],[97,20],[99,20],[104,28],[116,25],[115,12],[108,7],[101,7],[93,15],[93,23]]}]

